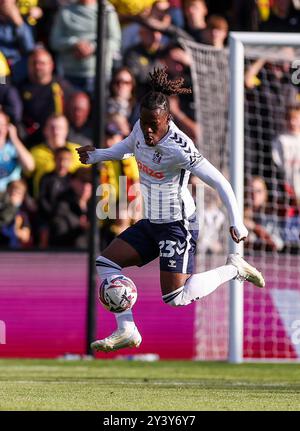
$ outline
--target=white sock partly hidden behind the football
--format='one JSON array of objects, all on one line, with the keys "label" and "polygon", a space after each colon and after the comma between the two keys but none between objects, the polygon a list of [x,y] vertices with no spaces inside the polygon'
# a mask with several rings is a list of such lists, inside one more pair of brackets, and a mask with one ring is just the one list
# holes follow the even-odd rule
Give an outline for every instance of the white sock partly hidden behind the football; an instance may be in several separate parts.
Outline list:
[{"label": "white sock partly hidden behind the football", "polygon": [[[96,268],[101,280],[105,280],[105,278],[110,277],[111,275],[122,274],[122,268],[118,264],[103,256],[97,257]],[[114,315],[117,321],[118,329],[133,329],[135,327],[131,310],[126,310],[122,313],[114,313]]]}]

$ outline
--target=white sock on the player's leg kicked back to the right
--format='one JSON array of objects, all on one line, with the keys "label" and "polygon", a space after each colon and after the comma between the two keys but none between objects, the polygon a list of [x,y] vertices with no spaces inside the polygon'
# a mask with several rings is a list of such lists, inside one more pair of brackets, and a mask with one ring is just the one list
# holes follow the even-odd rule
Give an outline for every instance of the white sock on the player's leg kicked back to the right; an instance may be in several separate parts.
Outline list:
[{"label": "white sock on the player's leg kicked back to the right", "polygon": [[163,295],[166,304],[178,307],[188,305],[204,296],[209,295],[221,284],[237,276],[237,269],[233,265],[223,265],[210,271],[192,274],[185,285],[175,291]]}]

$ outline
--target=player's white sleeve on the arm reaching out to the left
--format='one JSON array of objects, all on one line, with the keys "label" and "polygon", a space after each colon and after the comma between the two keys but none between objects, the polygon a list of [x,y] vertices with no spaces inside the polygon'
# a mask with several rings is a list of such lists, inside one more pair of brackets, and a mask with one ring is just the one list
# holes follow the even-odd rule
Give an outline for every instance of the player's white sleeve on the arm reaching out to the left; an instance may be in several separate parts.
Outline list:
[{"label": "player's white sleeve on the arm reaching out to the left", "polygon": [[88,151],[87,164],[103,162],[104,160],[122,160],[124,156],[131,156],[134,152],[135,133],[132,131],[127,138],[118,142],[110,148],[101,148]]}]

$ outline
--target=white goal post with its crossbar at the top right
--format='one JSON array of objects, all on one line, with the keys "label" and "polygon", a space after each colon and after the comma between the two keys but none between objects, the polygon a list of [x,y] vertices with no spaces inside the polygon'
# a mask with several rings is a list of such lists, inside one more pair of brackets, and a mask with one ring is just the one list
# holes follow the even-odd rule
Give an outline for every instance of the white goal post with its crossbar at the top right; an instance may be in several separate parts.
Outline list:
[{"label": "white goal post with its crossbar at the top right", "polygon": [[[230,62],[230,181],[244,213],[244,49],[245,45],[300,46],[300,33],[231,32]],[[242,245],[231,242],[231,253],[242,253]],[[229,354],[231,363],[243,362],[243,288],[230,283]]]}]

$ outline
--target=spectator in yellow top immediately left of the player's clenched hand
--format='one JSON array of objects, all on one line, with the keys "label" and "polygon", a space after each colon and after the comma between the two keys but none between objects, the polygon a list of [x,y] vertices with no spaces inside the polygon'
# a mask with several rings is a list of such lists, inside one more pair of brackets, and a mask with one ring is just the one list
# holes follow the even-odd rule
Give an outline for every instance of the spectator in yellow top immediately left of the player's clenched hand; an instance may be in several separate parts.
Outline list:
[{"label": "spectator in yellow top immediately left of the player's clenched hand", "polygon": [[67,147],[72,153],[70,172],[81,167],[75,149],[78,144],[67,141],[69,132],[68,120],[64,115],[51,115],[44,127],[45,142],[35,145],[30,151],[35,160],[35,171],[32,177],[32,192],[35,198],[39,195],[40,180],[43,175],[55,169],[54,152],[58,148]]}]

